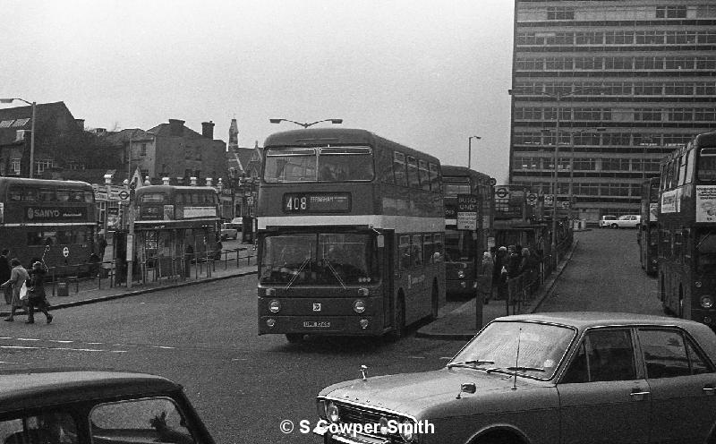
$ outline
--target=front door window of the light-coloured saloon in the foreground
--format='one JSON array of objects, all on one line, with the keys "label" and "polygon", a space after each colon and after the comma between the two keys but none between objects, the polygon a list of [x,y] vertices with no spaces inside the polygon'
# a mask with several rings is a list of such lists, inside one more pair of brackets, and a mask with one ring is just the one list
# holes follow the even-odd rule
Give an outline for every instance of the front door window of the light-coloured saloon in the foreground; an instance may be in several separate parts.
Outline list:
[{"label": "front door window of the light-coloured saloon in the foreground", "polygon": [[563,383],[634,380],[636,368],[628,329],[589,331],[569,364]]}]

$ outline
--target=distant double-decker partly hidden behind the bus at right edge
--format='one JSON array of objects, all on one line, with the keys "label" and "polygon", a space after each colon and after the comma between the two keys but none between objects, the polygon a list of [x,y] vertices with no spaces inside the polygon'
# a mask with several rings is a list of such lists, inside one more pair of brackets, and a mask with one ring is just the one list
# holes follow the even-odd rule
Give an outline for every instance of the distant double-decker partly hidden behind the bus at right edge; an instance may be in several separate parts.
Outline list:
[{"label": "distant double-decker partly hidden behind the bus at right edge", "polygon": [[656,276],[659,263],[659,177],[645,179],[642,184],[642,218],[637,229],[639,261],[649,276]]}]

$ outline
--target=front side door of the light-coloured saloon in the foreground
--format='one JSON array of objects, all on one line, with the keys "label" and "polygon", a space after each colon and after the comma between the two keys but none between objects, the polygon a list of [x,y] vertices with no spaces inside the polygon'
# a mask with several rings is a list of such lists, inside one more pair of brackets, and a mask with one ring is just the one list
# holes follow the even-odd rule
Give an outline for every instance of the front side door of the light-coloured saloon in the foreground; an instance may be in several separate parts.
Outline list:
[{"label": "front side door of the light-coloured saloon in the foreground", "polygon": [[645,443],[649,386],[637,371],[632,330],[589,329],[560,378],[562,443]]}]

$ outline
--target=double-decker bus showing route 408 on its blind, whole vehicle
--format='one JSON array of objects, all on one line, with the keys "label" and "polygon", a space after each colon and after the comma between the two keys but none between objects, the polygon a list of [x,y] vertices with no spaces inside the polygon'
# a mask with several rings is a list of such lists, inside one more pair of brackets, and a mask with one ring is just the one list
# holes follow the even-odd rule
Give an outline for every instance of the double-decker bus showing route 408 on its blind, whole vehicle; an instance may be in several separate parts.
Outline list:
[{"label": "double-decker bus showing route 408 on its blind, whole vehicle", "polygon": [[372,132],[278,132],[259,189],[259,335],[400,336],[445,301],[437,158]]}]

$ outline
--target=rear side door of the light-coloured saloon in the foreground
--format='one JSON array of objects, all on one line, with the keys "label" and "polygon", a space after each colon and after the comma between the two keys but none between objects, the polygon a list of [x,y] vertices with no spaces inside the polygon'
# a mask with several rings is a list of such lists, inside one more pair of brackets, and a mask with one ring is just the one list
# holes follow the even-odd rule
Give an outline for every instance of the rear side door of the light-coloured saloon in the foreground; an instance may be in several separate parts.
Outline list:
[{"label": "rear side door of the light-coloured saloon in the foreground", "polygon": [[680,329],[639,329],[652,392],[651,442],[705,442],[716,413],[716,373]]}]

